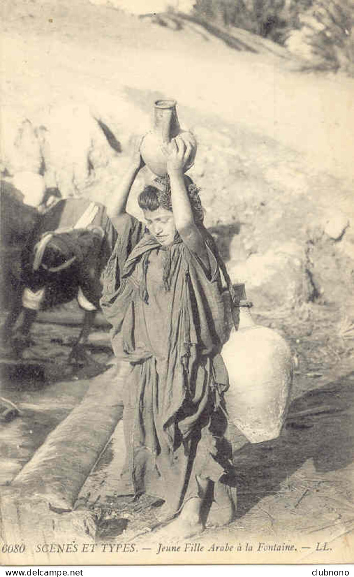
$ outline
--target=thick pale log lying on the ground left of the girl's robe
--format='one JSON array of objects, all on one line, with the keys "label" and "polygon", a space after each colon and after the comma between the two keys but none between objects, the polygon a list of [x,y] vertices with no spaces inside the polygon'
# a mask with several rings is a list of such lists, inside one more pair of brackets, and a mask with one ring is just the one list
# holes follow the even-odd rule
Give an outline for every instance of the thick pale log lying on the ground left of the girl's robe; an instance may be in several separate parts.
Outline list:
[{"label": "thick pale log lying on the ground left of the girl's robe", "polygon": [[81,403],[48,435],[12,486],[22,494],[42,496],[53,510],[73,509],[122,418],[122,388],[130,370],[128,363],[121,363],[93,379]]}]

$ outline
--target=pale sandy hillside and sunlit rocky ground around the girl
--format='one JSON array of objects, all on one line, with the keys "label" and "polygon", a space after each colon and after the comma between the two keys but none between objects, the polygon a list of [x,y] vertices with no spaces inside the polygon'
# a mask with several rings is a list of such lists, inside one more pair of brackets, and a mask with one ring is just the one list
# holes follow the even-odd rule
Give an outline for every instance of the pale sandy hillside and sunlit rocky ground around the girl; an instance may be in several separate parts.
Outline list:
[{"label": "pale sandy hillside and sunlit rocky ground around the girl", "polygon": [[[206,226],[232,280],[246,282],[255,319],[291,344],[297,368],[284,433],[240,455],[238,518],[227,535],[244,540],[257,527],[317,541],[351,531],[353,81],[299,73],[285,49],[245,31],[236,49],[195,23],[173,29],[83,1],[1,10],[2,174],[40,173],[63,196],[110,208],[130,135],[149,127],[156,98],[174,96],[181,125],[198,139],[190,175]],[[134,195],[148,178],[145,170]],[[134,198],[130,209],[137,213]],[[90,362],[67,365],[76,331],[36,324],[20,372],[2,351],[1,395],[21,410],[1,424],[3,485],[110,363],[97,327]],[[77,515],[89,512],[92,538],[142,533],[146,541],[158,507],[115,494],[121,440],[118,425]],[[209,527],[205,538],[225,534]]]}]

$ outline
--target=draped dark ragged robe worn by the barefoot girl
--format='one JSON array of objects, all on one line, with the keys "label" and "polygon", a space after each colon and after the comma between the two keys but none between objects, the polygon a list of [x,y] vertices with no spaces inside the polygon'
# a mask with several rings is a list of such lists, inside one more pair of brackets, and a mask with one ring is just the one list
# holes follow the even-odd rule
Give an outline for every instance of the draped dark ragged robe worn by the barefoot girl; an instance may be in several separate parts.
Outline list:
[{"label": "draped dark ragged robe worn by the barefoot girl", "polygon": [[208,270],[180,238],[163,247],[132,216],[122,215],[118,230],[101,308],[116,357],[131,365],[125,490],[161,497],[173,515],[198,496],[197,475],[217,483],[230,464],[220,351],[231,322],[204,228]]}]

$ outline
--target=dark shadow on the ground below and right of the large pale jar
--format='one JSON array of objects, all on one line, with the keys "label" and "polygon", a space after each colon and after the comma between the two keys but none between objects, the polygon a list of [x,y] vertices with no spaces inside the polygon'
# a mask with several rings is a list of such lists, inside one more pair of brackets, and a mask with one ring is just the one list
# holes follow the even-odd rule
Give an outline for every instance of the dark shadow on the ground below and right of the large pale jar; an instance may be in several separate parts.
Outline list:
[{"label": "dark shadow on the ground below and right of the large pale jar", "polygon": [[247,443],[234,454],[237,517],[277,493],[308,459],[319,475],[352,463],[353,417],[354,373],[294,400],[278,439]]}]

